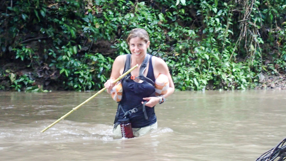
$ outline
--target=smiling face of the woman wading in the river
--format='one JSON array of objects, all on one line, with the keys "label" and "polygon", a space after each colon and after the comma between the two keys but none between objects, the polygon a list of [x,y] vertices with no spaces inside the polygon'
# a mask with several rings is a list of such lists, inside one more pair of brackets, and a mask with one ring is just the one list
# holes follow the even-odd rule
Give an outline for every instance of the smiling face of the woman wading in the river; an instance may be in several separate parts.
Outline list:
[{"label": "smiling face of the woman wading in the river", "polygon": [[132,55],[136,57],[145,57],[147,49],[150,45],[150,41],[146,43],[144,40],[137,36],[135,38],[131,38],[128,45]]}]

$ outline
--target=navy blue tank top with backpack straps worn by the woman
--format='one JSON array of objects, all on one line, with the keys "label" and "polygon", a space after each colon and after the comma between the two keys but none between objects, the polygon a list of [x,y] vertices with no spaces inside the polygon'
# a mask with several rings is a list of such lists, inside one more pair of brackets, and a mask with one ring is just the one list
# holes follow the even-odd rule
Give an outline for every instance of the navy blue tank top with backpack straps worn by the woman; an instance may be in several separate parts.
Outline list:
[{"label": "navy blue tank top with backpack straps worn by the woman", "polygon": [[[130,69],[130,59],[131,55],[128,54],[126,56],[126,61],[125,61],[125,69],[124,72]],[[131,79],[131,74],[129,73],[128,75],[125,76],[125,78],[122,78],[121,83],[122,83],[122,88],[123,88],[123,94],[122,94],[122,99],[118,104],[118,109],[116,112],[116,118],[114,120],[115,127],[119,124],[118,119],[123,118],[124,114],[126,117],[130,119],[130,123],[132,128],[143,128],[146,126],[150,126],[154,123],[156,123],[157,118],[155,115],[155,110],[154,107],[148,107],[145,106],[142,110],[142,102],[144,97],[155,97],[155,77],[154,77],[154,72],[153,72],[153,66],[152,66],[152,56],[149,54],[146,55],[146,59],[144,59],[140,72],[139,72],[139,79],[141,79],[143,82],[138,83],[133,81]],[[150,57],[150,58],[149,58]],[[147,63],[149,62],[148,66],[148,72],[147,76],[144,77],[143,72],[146,69],[144,68],[144,65],[147,67]],[[144,64],[145,63],[145,64]],[[123,72],[123,73],[124,73]],[[139,109],[137,112],[134,112],[134,108]],[[132,111],[129,112],[128,111]],[[144,110],[146,110],[145,115],[144,115]],[[147,117],[146,117],[147,115]],[[134,131],[133,131],[134,132]]]}]

